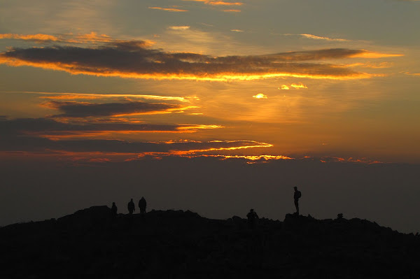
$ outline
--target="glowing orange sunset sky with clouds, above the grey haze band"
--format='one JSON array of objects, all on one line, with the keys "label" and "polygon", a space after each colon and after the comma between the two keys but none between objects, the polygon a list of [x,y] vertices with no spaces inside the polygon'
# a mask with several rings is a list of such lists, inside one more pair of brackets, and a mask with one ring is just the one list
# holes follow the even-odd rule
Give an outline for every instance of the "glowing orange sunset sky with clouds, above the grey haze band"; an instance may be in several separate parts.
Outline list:
[{"label": "glowing orange sunset sky with clouds, above the grey haze band", "polygon": [[419,15],[416,0],[1,1],[1,161],[417,166]]}]

